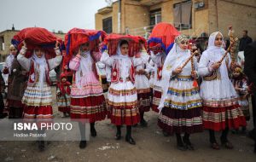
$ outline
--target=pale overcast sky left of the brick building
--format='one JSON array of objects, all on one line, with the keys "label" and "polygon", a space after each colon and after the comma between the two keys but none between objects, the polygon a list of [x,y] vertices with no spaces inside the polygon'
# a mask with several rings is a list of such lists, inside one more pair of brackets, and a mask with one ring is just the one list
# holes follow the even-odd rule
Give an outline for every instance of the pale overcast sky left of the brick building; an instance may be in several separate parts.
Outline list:
[{"label": "pale overcast sky left of the brick building", "polygon": [[0,32],[25,27],[44,27],[68,32],[73,27],[94,29],[95,14],[105,0],[0,0]]}]

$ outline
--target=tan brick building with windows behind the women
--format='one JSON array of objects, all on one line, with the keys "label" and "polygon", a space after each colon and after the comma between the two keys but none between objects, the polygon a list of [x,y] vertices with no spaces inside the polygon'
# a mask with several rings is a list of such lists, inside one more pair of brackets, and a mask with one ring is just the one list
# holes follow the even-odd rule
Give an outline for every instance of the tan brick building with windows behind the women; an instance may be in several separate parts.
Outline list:
[{"label": "tan brick building with windows behind the women", "polygon": [[148,37],[158,22],[169,22],[195,38],[220,31],[227,37],[232,25],[256,39],[255,0],[119,0],[95,14],[96,30]]}]

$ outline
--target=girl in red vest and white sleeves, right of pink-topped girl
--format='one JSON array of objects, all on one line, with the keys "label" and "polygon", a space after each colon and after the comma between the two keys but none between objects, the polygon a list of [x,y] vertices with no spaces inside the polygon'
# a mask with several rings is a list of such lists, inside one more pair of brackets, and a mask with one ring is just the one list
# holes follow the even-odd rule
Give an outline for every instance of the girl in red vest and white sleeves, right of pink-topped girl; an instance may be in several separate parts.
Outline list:
[{"label": "girl in red vest and white sleeves, right of pink-topped girl", "polygon": [[116,140],[121,138],[121,125],[126,125],[125,141],[136,144],[131,137],[131,126],[140,121],[137,108],[137,90],[134,86],[134,67],[129,53],[129,44],[120,40],[116,55],[102,54],[101,61],[112,67],[111,84],[108,89],[108,108],[111,123],[117,127]]}]

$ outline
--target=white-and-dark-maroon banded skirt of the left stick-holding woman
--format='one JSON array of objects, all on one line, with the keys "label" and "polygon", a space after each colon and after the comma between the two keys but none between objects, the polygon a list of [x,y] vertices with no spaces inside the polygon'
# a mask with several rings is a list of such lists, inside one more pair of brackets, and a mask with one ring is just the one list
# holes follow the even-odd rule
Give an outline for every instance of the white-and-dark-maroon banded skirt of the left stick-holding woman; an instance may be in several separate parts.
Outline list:
[{"label": "white-and-dark-maroon banded skirt of the left stick-holding woman", "polygon": [[189,134],[202,131],[202,101],[191,77],[172,78],[158,125],[166,132]]}]

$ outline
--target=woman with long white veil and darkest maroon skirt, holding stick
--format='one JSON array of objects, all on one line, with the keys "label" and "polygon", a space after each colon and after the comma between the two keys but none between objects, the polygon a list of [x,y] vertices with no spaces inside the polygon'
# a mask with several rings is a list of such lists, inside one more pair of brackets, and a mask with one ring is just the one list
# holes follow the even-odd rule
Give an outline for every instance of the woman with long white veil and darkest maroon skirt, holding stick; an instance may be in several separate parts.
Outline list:
[{"label": "woman with long white veil and darkest maroon skirt, holding stick", "polygon": [[198,78],[196,59],[192,63],[189,61],[182,69],[184,62],[190,57],[188,45],[189,40],[185,36],[177,36],[166,57],[158,122],[160,128],[167,133],[176,133],[177,149],[183,151],[194,149],[189,140],[190,134],[202,131],[202,104],[195,80]]}]

